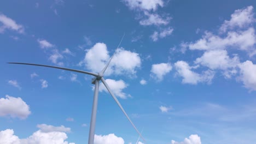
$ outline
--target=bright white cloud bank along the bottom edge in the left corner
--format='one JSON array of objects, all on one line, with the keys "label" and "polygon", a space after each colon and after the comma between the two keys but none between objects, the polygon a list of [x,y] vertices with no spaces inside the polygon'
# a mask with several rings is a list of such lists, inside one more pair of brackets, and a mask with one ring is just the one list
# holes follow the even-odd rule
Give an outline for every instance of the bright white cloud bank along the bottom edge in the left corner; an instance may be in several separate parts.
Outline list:
[{"label": "bright white cloud bank along the bottom edge in the left corner", "polygon": [[0,131],[0,143],[5,144],[74,144],[65,141],[67,138],[67,134],[60,131],[51,131],[45,133],[41,130],[38,130],[34,132],[31,136],[27,137],[26,139],[19,139],[18,136],[14,135],[13,129],[6,129]]}]

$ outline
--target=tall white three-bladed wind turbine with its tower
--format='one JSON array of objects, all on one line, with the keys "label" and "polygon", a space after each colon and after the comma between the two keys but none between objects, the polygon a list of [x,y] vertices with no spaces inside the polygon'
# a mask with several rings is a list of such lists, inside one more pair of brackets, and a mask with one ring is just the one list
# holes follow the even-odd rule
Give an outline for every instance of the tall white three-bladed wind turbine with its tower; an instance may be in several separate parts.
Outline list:
[{"label": "tall white three-bladed wind turbine with its tower", "polygon": [[[124,35],[123,35],[124,38]],[[121,39],[121,41],[123,40],[123,38]],[[121,41],[118,45],[118,47],[121,44]],[[117,48],[118,48],[117,47]],[[116,52],[117,50],[115,50]],[[115,52],[113,54],[113,56],[115,55]],[[132,127],[135,128],[135,130],[137,131],[137,133],[139,134],[139,137],[141,137],[143,140],[143,136],[141,135],[141,133],[139,133],[138,129],[135,127],[135,125],[132,123],[131,119],[129,118],[129,116],[127,115],[127,113],[125,112],[123,106],[119,103],[117,97],[115,97],[114,93],[111,91],[111,89],[108,86],[108,83],[105,81],[104,79],[104,72],[106,71],[106,69],[109,66],[109,63],[112,60],[112,57],[110,57],[108,63],[105,65],[105,67],[100,71],[100,73],[92,73],[89,71],[83,71],[83,70],[75,70],[75,69],[68,69],[68,68],[62,68],[62,67],[54,67],[51,65],[42,65],[42,64],[33,64],[33,63],[16,63],[16,62],[11,62],[9,64],[25,64],[25,65],[36,65],[39,67],[48,67],[48,68],[55,68],[55,69],[62,69],[62,70],[67,70],[67,71],[73,71],[75,73],[82,73],[82,74],[88,74],[88,75],[92,75],[94,76],[94,78],[92,79],[91,83],[95,85],[95,89],[94,89],[94,101],[92,104],[92,112],[91,112],[91,123],[90,123],[90,131],[89,131],[89,140],[88,140],[88,144],[93,144],[94,143],[94,135],[95,135],[95,124],[96,124],[96,114],[97,114],[97,105],[98,105],[98,87],[99,87],[99,83],[100,81],[102,81],[103,85],[108,89],[108,92],[110,93],[110,95],[112,95],[112,98],[115,100],[115,102],[118,104],[118,106],[120,107],[121,111],[123,111],[124,115],[126,116],[126,118],[130,121],[130,123],[132,124]],[[144,140],[145,141],[145,140]]]}]

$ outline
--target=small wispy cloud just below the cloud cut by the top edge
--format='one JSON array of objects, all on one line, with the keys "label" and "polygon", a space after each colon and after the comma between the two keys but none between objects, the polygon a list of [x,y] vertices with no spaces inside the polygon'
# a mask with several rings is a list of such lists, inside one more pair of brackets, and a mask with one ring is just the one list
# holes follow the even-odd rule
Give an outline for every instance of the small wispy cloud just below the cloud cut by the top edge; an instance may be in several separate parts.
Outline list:
[{"label": "small wispy cloud just below the cloud cut by the top edge", "polygon": [[147,17],[147,19],[143,19],[139,21],[139,24],[142,26],[160,26],[160,25],[167,25],[172,17],[161,17],[158,14],[150,14],[147,11],[144,12],[144,15]]}]

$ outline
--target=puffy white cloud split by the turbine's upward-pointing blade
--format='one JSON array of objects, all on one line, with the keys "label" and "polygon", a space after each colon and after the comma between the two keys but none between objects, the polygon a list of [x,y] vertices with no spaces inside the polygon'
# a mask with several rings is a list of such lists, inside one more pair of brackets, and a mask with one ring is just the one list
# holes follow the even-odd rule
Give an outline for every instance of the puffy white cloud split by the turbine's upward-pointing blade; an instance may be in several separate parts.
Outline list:
[{"label": "puffy white cloud split by the turbine's upward-pointing blade", "polygon": [[[97,43],[92,46],[91,49],[86,50],[85,58],[83,61],[79,62],[79,65],[85,65],[86,68],[98,73],[104,68],[109,58],[110,56],[106,44]],[[141,58],[138,53],[126,51],[121,48],[116,51],[105,75],[113,73],[119,75],[135,75],[136,69],[140,67]]]}]

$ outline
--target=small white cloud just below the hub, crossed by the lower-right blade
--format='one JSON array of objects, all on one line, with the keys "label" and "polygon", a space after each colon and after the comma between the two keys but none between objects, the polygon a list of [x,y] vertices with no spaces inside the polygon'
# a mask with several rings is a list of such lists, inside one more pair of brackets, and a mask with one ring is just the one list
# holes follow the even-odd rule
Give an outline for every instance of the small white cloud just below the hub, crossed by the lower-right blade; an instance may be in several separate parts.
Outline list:
[{"label": "small white cloud just below the hub, crossed by the lower-right blade", "polygon": [[[123,81],[115,81],[111,79],[106,79],[106,82],[108,83],[108,86],[112,90],[112,92],[115,94],[115,96],[121,98],[121,99],[126,99],[129,97],[129,94],[126,94],[123,92],[123,89],[126,88],[128,85]],[[100,83],[100,87],[98,89],[100,92],[104,91],[108,93],[107,88],[103,85],[103,83]]]}]

